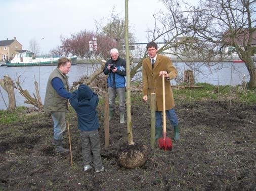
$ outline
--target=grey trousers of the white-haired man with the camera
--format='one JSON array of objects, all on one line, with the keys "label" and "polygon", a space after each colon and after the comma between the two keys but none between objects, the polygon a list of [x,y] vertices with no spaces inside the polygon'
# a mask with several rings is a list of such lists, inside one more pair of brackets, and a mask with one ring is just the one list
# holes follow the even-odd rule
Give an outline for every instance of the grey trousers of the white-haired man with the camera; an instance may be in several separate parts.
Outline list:
[{"label": "grey trousers of the white-haired man with the camera", "polygon": [[125,111],[125,87],[111,88],[108,87],[109,111],[115,111],[115,96],[118,95],[119,111]]}]

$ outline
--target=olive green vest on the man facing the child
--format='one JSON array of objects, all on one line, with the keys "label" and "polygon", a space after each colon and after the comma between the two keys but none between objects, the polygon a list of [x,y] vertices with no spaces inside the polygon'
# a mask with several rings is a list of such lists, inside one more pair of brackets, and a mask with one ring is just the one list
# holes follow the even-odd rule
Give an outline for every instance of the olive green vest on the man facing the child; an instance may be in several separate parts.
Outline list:
[{"label": "olive green vest on the man facing the child", "polygon": [[64,84],[64,87],[69,91],[68,76],[64,75],[58,68],[51,74],[47,82],[46,97],[45,97],[45,111],[47,112],[65,112],[68,108],[68,100],[61,97],[52,85],[52,80],[58,77]]}]

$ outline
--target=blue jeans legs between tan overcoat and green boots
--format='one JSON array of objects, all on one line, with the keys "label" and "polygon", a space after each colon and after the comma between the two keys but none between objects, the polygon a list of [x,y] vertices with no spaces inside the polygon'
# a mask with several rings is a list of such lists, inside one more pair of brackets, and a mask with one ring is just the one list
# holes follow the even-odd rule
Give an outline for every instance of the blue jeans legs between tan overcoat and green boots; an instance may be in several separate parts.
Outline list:
[{"label": "blue jeans legs between tan overcoat and green boots", "polygon": [[[170,120],[170,124],[173,126],[178,125],[178,118],[174,108],[165,111],[166,116]],[[160,128],[162,126],[162,111],[155,111],[155,126]]]}]

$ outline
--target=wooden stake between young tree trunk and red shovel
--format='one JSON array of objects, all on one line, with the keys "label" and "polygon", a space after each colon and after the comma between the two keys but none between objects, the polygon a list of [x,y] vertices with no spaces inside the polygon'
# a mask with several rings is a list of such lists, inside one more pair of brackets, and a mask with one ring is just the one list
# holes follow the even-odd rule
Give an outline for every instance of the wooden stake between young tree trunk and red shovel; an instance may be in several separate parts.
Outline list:
[{"label": "wooden stake between young tree trunk and red shovel", "polygon": [[154,148],[155,146],[155,93],[150,95],[150,119],[151,119],[151,128],[150,128],[150,147]]}]

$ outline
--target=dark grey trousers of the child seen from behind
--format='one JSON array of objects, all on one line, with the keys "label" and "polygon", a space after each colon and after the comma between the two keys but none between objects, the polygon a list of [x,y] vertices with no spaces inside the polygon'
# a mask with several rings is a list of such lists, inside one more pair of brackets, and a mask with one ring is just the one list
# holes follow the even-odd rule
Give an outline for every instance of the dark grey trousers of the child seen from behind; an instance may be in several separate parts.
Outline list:
[{"label": "dark grey trousers of the child seen from behind", "polygon": [[82,159],[84,165],[88,165],[93,161],[95,170],[100,170],[102,168],[102,160],[98,130],[90,132],[80,131],[80,137],[82,144]]}]

